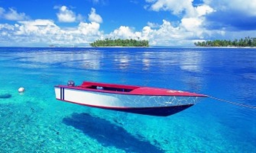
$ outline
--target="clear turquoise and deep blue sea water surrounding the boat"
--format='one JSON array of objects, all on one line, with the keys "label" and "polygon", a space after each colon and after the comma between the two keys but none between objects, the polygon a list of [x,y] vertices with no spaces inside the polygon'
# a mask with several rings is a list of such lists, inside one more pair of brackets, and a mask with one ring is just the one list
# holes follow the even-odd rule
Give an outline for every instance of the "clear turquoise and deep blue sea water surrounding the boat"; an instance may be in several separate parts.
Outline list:
[{"label": "clear turquoise and deep blue sea water surrounding the boat", "polygon": [[205,98],[169,117],[110,111],[56,100],[68,80],[256,106],[256,49],[1,47],[1,153],[256,153],[256,109]]}]

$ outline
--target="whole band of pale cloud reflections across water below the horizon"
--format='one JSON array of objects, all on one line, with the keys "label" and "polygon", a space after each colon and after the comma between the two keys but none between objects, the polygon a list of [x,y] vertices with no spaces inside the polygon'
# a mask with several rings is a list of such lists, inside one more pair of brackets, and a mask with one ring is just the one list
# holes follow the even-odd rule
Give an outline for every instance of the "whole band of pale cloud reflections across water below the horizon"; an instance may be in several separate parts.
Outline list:
[{"label": "whole band of pale cloud reflections across water below the horizon", "polygon": [[[65,66],[80,69],[108,69],[134,71],[143,70],[169,72],[180,67],[181,70],[202,72],[202,53],[196,51],[140,50],[140,49],[76,49],[61,51],[58,49],[17,52],[15,60],[25,67],[43,68]],[[22,64],[20,65],[22,67]],[[24,67],[23,66],[23,67]]]}]

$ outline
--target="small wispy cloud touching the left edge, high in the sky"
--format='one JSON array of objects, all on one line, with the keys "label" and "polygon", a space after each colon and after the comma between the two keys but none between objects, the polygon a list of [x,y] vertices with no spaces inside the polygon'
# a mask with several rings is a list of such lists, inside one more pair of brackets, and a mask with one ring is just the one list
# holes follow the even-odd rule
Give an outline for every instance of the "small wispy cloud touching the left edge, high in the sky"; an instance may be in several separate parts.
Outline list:
[{"label": "small wispy cloud touching the left edge, high in the sky", "polygon": [[20,21],[29,19],[25,13],[18,13],[15,9],[9,8],[6,11],[4,8],[0,7],[0,18],[4,18],[6,20]]}]

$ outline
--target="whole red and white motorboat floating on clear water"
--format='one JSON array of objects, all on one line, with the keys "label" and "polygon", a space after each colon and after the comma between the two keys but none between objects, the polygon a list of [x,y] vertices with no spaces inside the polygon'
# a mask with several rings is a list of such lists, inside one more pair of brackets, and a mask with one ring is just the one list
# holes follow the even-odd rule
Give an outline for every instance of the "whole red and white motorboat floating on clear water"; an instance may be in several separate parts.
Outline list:
[{"label": "whole red and white motorboat floating on clear water", "polygon": [[187,109],[207,97],[186,91],[84,81],[76,86],[54,86],[57,100],[89,107],[152,116],[169,116]]}]

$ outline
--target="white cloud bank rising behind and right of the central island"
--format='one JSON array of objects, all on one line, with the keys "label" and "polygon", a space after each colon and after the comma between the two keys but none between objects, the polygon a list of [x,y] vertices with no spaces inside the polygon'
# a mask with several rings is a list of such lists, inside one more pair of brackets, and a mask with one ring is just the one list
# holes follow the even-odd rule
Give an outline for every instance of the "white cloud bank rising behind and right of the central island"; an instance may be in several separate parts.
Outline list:
[{"label": "white cloud bank rising behind and right of the central island", "polygon": [[139,37],[140,40],[149,40],[151,46],[192,46],[193,42],[212,33],[223,34],[220,31],[208,31],[200,27],[201,22],[198,18],[183,18],[178,26],[173,26],[171,22],[163,20],[163,23],[158,28],[152,29],[150,26],[145,26],[141,31],[134,31],[130,27],[120,26],[105,36],[107,38],[124,39],[137,39]]}]

